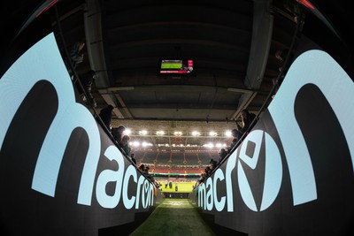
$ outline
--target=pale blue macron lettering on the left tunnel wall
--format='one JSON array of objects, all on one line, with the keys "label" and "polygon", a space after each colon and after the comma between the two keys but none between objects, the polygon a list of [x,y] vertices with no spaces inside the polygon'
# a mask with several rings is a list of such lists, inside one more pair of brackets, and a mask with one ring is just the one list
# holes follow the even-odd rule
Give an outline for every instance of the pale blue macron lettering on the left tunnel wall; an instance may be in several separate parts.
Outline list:
[{"label": "pale blue macron lettering on the left tunnel wall", "polygon": [[[50,58],[50,59],[48,59]],[[0,148],[4,143],[5,135],[12,123],[19,106],[23,103],[28,92],[41,80],[46,80],[55,88],[58,95],[58,111],[53,119],[48,133],[44,137],[42,148],[35,165],[32,188],[42,194],[55,196],[58,174],[62,163],[67,142],[73,130],[81,127],[89,137],[89,150],[81,173],[81,182],[78,190],[78,203],[91,205],[94,192],[97,164],[101,153],[101,139],[95,118],[90,111],[80,103],[76,103],[73,84],[59,53],[54,34],[48,34],[31,49],[28,49],[0,80],[0,110],[5,110],[0,116]],[[104,208],[112,209],[119,204],[124,181],[123,201],[129,209],[135,202],[135,196],[127,197],[127,185],[130,177],[136,183],[137,172],[133,167],[127,167],[124,178],[124,156],[115,146],[108,147],[104,156],[118,163],[118,171],[102,171],[96,183],[97,202]],[[73,156],[74,157],[74,156]],[[145,182],[144,182],[145,180]],[[109,182],[116,184],[114,194],[108,195],[105,187]],[[139,179],[137,195],[144,183],[142,194],[143,206],[153,204],[153,185],[143,176]],[[152,192],[152,194],[151,194]],[[139,198],[136,198],[136,208]]]}]

